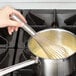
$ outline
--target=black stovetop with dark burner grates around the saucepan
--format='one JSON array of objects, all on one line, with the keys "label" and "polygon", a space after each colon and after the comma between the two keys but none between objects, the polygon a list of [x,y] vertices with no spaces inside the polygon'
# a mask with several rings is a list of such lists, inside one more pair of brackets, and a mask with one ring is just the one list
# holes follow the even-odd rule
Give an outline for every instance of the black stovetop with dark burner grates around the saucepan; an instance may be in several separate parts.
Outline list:
[{"label": "black stovetop with dark burner grates around the saucepan", "polygon": [[[75,13],[73,10],[19,10],[28,24],[36,31],[47,28],[63,28],[76,34]],[[69,24],[70,23],[70,24]],[[29,51],[27,43],[30,35],[19,28],[10,36],[7,28],[0,29],[0,68],[5,68],[23,61],[34,55]],[[5,76],[37,76],[37,64],[19,69]],[[73,72],[69,76],[76,76]]]}]

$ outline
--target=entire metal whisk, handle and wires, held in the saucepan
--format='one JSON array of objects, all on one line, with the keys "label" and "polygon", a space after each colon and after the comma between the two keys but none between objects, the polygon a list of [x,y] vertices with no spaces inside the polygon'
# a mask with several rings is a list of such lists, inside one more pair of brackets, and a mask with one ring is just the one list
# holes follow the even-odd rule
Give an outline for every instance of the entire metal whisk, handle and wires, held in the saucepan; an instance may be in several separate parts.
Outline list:
[{"label": "entire metal whisk, handle and wires, held in the saucepan", "polygon": [[[16,15],[12,15],[12,19],[19,21],[19,22],[23,22]],[[48,58],[59,59],[59,58],[65,58],[68,56],[68,52],[66,51],[66,49],[64,47],[62,47],[61,45],[52,43],[49,39],[47,39],[43,36],[37,35],[35,30],[32,29],[28,24],[24,23],[22,28],[37,41],[37,43],[43,49],[43,51],[46,53]],[[46,42],[44,42],[44,41],[46,41]]]}]

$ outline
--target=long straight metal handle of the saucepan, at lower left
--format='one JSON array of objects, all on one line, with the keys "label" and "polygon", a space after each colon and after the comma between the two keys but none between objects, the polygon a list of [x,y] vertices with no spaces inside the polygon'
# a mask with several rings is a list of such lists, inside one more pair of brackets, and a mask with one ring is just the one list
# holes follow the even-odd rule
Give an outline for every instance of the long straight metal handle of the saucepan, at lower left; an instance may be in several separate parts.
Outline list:
[{"label": "long straight metal handle of the saucepan, at lower left", "polygon": [[0,69],[0,76],[3,76],[5,74],[8,74],[10,72],[27,67],[27,66],[35,64],[35,63],[38,63],[38,57],[36,57],[36,59],[30,59],[30,60],[15,64],[15,65]]}]

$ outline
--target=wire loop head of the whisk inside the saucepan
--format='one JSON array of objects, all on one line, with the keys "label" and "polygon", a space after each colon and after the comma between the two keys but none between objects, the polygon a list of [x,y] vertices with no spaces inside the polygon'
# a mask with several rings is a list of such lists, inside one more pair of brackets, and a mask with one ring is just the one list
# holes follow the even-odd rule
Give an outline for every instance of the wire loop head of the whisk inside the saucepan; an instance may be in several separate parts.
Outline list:
[{"label": "wire loop head of the whisk inside the saucepan", "polygon": [[[60,59],[65,58],[69,55],[69,51],[66,51],[66,48],[57,44],[52,43],[49,39],[43,36],[34,36],[39,46],[44,50],[50,59]],[[44,42],[46,41],[46,42]]]}]

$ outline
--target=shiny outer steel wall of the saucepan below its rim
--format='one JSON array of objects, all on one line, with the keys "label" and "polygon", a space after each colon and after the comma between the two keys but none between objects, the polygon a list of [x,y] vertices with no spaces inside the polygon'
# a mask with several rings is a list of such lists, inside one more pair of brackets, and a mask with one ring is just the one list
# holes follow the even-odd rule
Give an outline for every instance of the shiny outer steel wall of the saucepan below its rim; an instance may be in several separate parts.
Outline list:
[{"label": "shiny outer steel wall of the saucepan below its rim", "polygon": [[40,58],[39,76],[69,76],[73,71],[75,71],[75,58],[76,54],[67,59],[61,60]]}]

